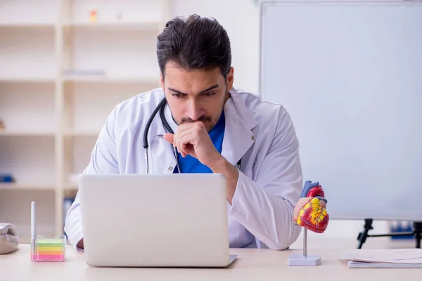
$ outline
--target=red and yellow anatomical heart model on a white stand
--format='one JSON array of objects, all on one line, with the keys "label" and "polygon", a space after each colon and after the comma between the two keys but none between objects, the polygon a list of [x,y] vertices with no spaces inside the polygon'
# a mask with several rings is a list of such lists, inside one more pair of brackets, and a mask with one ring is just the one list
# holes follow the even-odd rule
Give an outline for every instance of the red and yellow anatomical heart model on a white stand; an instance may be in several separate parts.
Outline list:
[{"label": "red and yellow anatomical heart model on a white stand", "polygon": [[324,190],[318,182],[307,181],[295,206],[293,220],[303,230],[303,254],[290,254],[288,266],[319,266],[321,256],[307,254],[307,230],[315,233],[324,233],[328,226],[327,200]]}]

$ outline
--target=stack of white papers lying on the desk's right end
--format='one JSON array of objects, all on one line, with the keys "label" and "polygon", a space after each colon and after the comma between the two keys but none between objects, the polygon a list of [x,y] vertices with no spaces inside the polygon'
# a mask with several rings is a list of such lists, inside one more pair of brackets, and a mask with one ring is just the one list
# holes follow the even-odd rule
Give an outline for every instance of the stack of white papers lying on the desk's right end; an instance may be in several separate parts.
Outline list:
[{"label": "stack of white papers lying on the desk's right end", "polygon": [[422,268],[422,249],[352,249],[340,259],[349,268]]}]

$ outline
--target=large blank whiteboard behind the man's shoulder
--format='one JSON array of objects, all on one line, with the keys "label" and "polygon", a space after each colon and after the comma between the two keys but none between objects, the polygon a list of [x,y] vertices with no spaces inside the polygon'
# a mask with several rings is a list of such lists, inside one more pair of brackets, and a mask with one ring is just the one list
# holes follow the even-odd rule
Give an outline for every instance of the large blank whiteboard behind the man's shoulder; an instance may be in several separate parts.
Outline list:
[{"label": "large blank whiteboard behind the man's shoulder", "polygon": [[263,2],[260,91],[331,218],[422,221],[422,2]]}]

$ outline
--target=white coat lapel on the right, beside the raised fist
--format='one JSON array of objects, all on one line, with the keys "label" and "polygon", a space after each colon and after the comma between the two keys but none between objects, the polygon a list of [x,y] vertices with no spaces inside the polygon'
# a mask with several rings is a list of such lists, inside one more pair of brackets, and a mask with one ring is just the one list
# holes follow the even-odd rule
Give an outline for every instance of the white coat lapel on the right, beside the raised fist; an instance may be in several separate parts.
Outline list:
[{"label": "white coat lapel on the right, beside the raised fist", "polygon": [[255,134],[251,130],[257,122],[236,90],[231,89],[230,94],[231,98],[224,105],[226,127],[222,156],[235,165],[255,142]]}]

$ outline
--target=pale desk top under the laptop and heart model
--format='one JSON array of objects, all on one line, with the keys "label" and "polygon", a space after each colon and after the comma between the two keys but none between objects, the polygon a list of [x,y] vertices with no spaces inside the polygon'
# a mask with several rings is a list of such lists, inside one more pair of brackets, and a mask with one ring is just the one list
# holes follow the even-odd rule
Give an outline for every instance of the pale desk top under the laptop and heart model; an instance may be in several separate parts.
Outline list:
[{"label": "pale desk top under the laptop and heart model", "polygon": [[309,254],[321,254],[322,264],[316,267],[287,265],[288,255],[301,249],[231,249],[238,259],[228,268],[92,268],[83,253],[70,246],[66,251],[63,263],[32,263],[30,245],[20,244],[17,251],[0,255],[0,280],[422,280],[418,268],[347,268],[338,258],[339,249],[308,249]]}]

